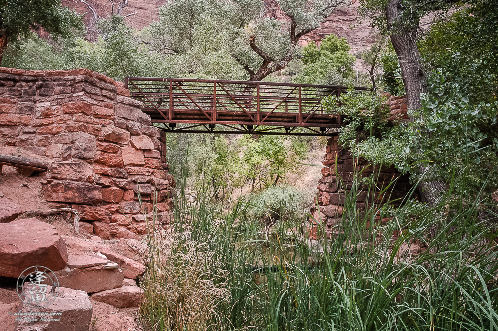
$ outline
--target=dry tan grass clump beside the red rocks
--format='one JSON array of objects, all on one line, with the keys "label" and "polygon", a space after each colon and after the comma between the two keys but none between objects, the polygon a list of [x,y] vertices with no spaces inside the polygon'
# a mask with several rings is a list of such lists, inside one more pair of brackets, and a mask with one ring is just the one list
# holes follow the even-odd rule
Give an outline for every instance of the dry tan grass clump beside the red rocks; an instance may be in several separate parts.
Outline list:
[{"label": "dry tan grass clump beside the red rocks", "polygon": [[219,281],[225,271],[214,262],[214,252],[202,249],[188,233],[157,231],[149,240],[142,325],[149,330],[204,331],[221,324],[218,306],[230,299],[230,292]]}]

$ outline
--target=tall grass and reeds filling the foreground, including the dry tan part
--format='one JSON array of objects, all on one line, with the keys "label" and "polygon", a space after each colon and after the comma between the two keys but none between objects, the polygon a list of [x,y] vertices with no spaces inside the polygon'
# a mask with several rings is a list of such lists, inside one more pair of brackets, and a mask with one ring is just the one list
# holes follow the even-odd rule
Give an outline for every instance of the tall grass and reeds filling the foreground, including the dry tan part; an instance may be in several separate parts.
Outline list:
[{"label": "tall grass and reeds filling the foreground, including the dry tan part", "polygon": [[171,231],[148,238],[146,330],[498,330],[497,215],[452,183],[436,206],[393,209],[355,179],[332,236],[311,240],[259,238],[243,198],[189,204],[178,182]]}]

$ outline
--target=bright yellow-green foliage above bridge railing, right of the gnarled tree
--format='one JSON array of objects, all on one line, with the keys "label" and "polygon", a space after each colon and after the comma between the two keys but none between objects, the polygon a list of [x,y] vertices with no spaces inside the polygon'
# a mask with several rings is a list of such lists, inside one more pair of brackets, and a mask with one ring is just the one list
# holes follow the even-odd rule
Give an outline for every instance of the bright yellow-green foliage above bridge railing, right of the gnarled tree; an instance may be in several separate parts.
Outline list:
[{"label": "bright yellow-green foliage above bridge railing, right of the gnarled tree", "polygon": [[303,47],[302,61],[305,66],[294,80],[304,84],[344,85],[351,79],[355,57],[348,54],[350,46],[346,38],[329,34],[317,48],[314,42]]}]

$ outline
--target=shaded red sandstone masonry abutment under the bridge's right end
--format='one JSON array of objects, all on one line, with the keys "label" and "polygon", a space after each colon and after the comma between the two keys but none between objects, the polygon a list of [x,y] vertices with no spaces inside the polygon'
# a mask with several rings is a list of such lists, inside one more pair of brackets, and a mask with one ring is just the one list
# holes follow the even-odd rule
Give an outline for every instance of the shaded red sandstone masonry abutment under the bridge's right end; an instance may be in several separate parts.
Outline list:
[{"label": "shaded red sandstone masonry abutment under the bridge's right end", "polygon": [[[390,109],[391,116],[389,120],[407,120],[406,115],[406,98],[391,97],[387,100],[386,105]],[[364,159],[354,159],[348,150],[339,146],[338,136],[331,137],[327,140],[327,149],[322,169],[323,178],[318,181],[318,209],[314,209],[313,217],[315,220],[322,220],[321,224],[325,228],[328,236],[331,235],[332,227],[341,220],[344,213],[344,201],[348,190],[353,186],[354,169],[362,169],[362,175],[369,176],[376,174],[376,185],[379,188],[384,187],[391,180],[397,179],[396,185],[386,192],[390,195],[390,200],[403,198],[411,189],[408,176],[401,176],[394,167],[369,166],[369,162]],[[368,166],[368,167],[367,167]],[[380,190],[374,190],[371,193],[376,201],[381,201],[387,196],[382,196]],[[371,201],[372,198],[369,198]],[[367,200],[367,193],[363,192],[358,196],[357,208],[362,209]],[[385,220],[384,220],[385,221]],[[310,235],[317,237],[317,225],[314,221],[309,226]]]}]

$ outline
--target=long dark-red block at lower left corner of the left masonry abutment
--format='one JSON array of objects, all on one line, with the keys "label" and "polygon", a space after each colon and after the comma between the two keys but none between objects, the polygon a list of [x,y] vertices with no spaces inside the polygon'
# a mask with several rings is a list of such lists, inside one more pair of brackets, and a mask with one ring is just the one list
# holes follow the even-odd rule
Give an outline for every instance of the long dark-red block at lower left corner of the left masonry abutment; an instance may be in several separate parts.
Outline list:
[{"label": "long dark-red block at lower left corner of the left masonry abutment", "polygon": [[47,201],[76,204],[98,204],[102,202],[102,187],[93,184],[56,181],[43,186]]}]

